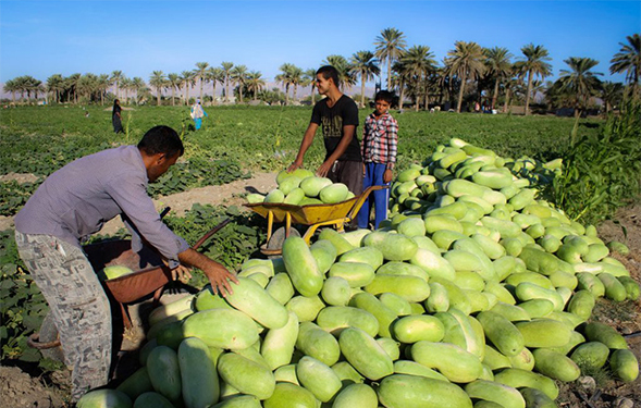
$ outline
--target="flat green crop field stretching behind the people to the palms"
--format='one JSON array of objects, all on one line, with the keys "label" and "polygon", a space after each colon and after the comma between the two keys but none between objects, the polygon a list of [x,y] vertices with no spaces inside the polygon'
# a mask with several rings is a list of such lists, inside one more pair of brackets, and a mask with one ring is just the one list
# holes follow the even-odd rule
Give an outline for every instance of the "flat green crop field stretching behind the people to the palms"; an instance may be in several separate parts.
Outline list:
[{"label": "flat green crop field stretching behind the people to the palms", "polygon": [[[309,123],[309,107],[211,107],[202,131],[193,132],[186,107],[136,107],[123,112],[128,133],[115,135],[111,112],[89,107],[89,118],[77,107],[25,107],[0,115],[0,174],[50,174],[64,163],[111,146],[135,144],[151,126],[164,124],[184,132],[185,159],[229,159],[246,171],[276,171],[289,164]],[[360,111],[361,123],[370,110]],[[421,162],[433,148],[452,137],[495,150],[502,156],[548,159],[569,143],[574,120],[405,112],[398,120],[400,169]],[[603,122],[582,122],[580,134],[596,134]],[[315,168],[324,154],[317,137],[306,157]]]}]

